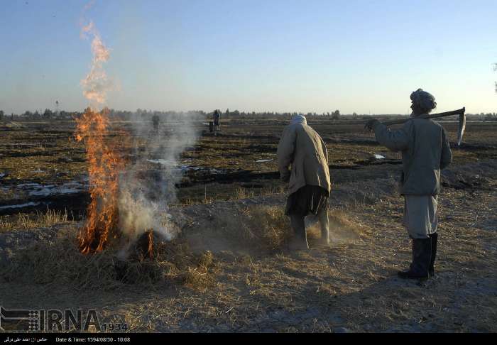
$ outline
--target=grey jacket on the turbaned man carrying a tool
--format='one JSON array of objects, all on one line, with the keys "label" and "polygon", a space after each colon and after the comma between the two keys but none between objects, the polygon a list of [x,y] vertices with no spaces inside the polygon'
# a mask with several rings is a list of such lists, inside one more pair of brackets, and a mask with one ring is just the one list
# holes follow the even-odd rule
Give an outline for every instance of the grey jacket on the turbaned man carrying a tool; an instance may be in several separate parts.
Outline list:
[{"label": "grey jacket on the turbaned man carrying a tool", "polygon": [[402,151],[402,195],[438,195],[440,169],[452,162],[452,151],[444,128],[430,119],[413,118],[391,131],[373,126],[376,140],[394,151]]}]

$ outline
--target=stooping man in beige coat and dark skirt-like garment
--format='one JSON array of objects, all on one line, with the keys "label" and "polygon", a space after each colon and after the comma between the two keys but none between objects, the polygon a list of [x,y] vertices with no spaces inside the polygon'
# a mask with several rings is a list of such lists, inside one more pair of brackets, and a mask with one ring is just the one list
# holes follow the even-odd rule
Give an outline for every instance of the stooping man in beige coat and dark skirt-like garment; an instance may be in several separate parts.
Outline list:
[{"label": "stooping man in beige coat and dark skirt-like garment", "polygon": [[[291,172],[288,170],[291,165]],[[295,236],[290,241],[291,249],[307,249],[305,217],[317,215],[321,227],[321,242],[329,244],[328,197],[331,190],[329,180],[328,153],[318,133],[307,126],[305,116],[297,115],[283,130],[278,144],[278,168],[280,177],[288,182],[285,214]]]}]

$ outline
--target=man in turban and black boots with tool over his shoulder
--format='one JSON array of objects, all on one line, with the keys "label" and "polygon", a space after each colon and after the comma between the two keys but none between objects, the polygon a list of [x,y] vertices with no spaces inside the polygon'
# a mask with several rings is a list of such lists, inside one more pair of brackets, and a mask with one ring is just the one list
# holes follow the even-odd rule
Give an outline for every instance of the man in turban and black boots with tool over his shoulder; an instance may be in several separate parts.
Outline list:
[{"label": "man in turban and black boots with tool over his shoulder", "polygon": [[375,132],[378,143],[402,152],[403,225],[413,240],[413,263],[398,275],[400,278],[428,278],[435,275],[440,170],[452,162],[452,151],[444,128],[431,119],[420,118],[435,109],[435,97],[417,89],[410,99],[412,119],[402,128],[391,131],[376,119],[369,120],[366,128]]}]

